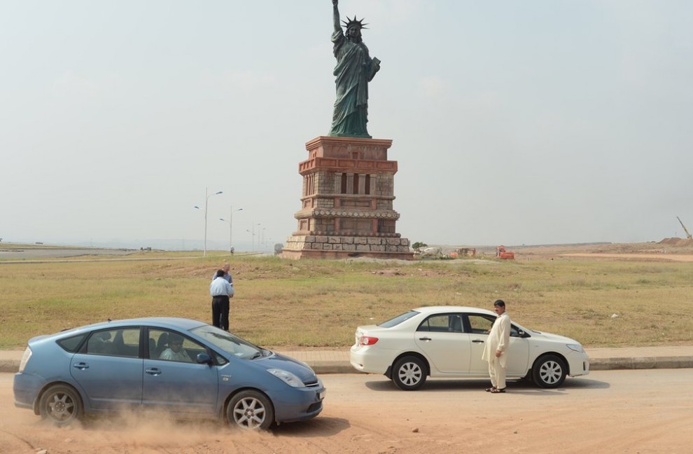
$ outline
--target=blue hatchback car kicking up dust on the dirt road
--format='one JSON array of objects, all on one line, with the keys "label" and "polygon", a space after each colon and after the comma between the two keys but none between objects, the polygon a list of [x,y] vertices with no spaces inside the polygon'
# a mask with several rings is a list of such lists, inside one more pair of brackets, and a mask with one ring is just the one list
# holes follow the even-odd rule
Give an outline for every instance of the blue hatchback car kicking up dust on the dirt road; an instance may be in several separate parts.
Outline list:
[{"label": "blue hatchback car kicking up dust on the dirt road", "polygon": [[31,338],[14,394],[15,406],[57,425],[135,409],[267,429],[317,416],[325,387],[307,364],[232,333],[151,317]]}]

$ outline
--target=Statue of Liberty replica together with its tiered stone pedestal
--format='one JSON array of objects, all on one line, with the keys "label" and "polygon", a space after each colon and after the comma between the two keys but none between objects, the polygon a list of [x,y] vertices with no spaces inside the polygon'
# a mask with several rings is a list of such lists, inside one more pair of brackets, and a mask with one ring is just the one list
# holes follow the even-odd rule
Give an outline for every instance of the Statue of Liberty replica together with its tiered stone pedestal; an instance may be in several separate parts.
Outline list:
[{"label": "Statue of Liberty replica together with its tiered stone pedestal", "polygon": [[344,31],[338,0],[332,0],[337,99],[330,134],[306,143],[298,163],[301,185],[296,230],[286,238],[283,259],[414,259],[398,233],[395,211],[397,161],[388,159],[392,139],[373,139],[368,123],[368,83],[380,60],[361,40],[363,19],[349,17]]}]

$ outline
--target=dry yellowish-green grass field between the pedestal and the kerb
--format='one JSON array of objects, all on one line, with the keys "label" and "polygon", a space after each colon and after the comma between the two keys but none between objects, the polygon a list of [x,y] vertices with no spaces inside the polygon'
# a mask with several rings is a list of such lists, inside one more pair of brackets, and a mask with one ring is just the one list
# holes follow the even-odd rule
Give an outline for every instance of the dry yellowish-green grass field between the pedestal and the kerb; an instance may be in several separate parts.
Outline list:
[{"label": "dry yellowish-green grass field between the pedestal and the kerb", "polygon": [[[0,348],[111,319],[209,322],[211,276],[228,256],[135,253],[131,260],[0,263]],[[152,257],[159,260],[141,260]],[[115,258],[114,258],[115,259]],[[140,260],[132,260],[140,259]],[[356,326],[421,305],[491,308],[589,348],[690,345],[693,263],[556,258],[517,261],[230,259],[231,331],[270,348],[348,348]],[[617,315],[612,317],[612,315]]]}]

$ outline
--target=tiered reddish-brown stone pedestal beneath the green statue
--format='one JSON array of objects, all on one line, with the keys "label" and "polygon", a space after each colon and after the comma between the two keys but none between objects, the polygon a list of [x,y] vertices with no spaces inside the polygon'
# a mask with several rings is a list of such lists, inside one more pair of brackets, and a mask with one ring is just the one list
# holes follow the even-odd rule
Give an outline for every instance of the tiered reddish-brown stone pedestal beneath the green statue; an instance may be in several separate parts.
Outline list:
[{"label": "tiered reddish-brown stone pedestal beneath the green statue", "polygon": [[413,259],[409,240],[395,229],[397,161],[386,139],[320,136],[306,144],[297,231],[281,256],[289,259]]}]

